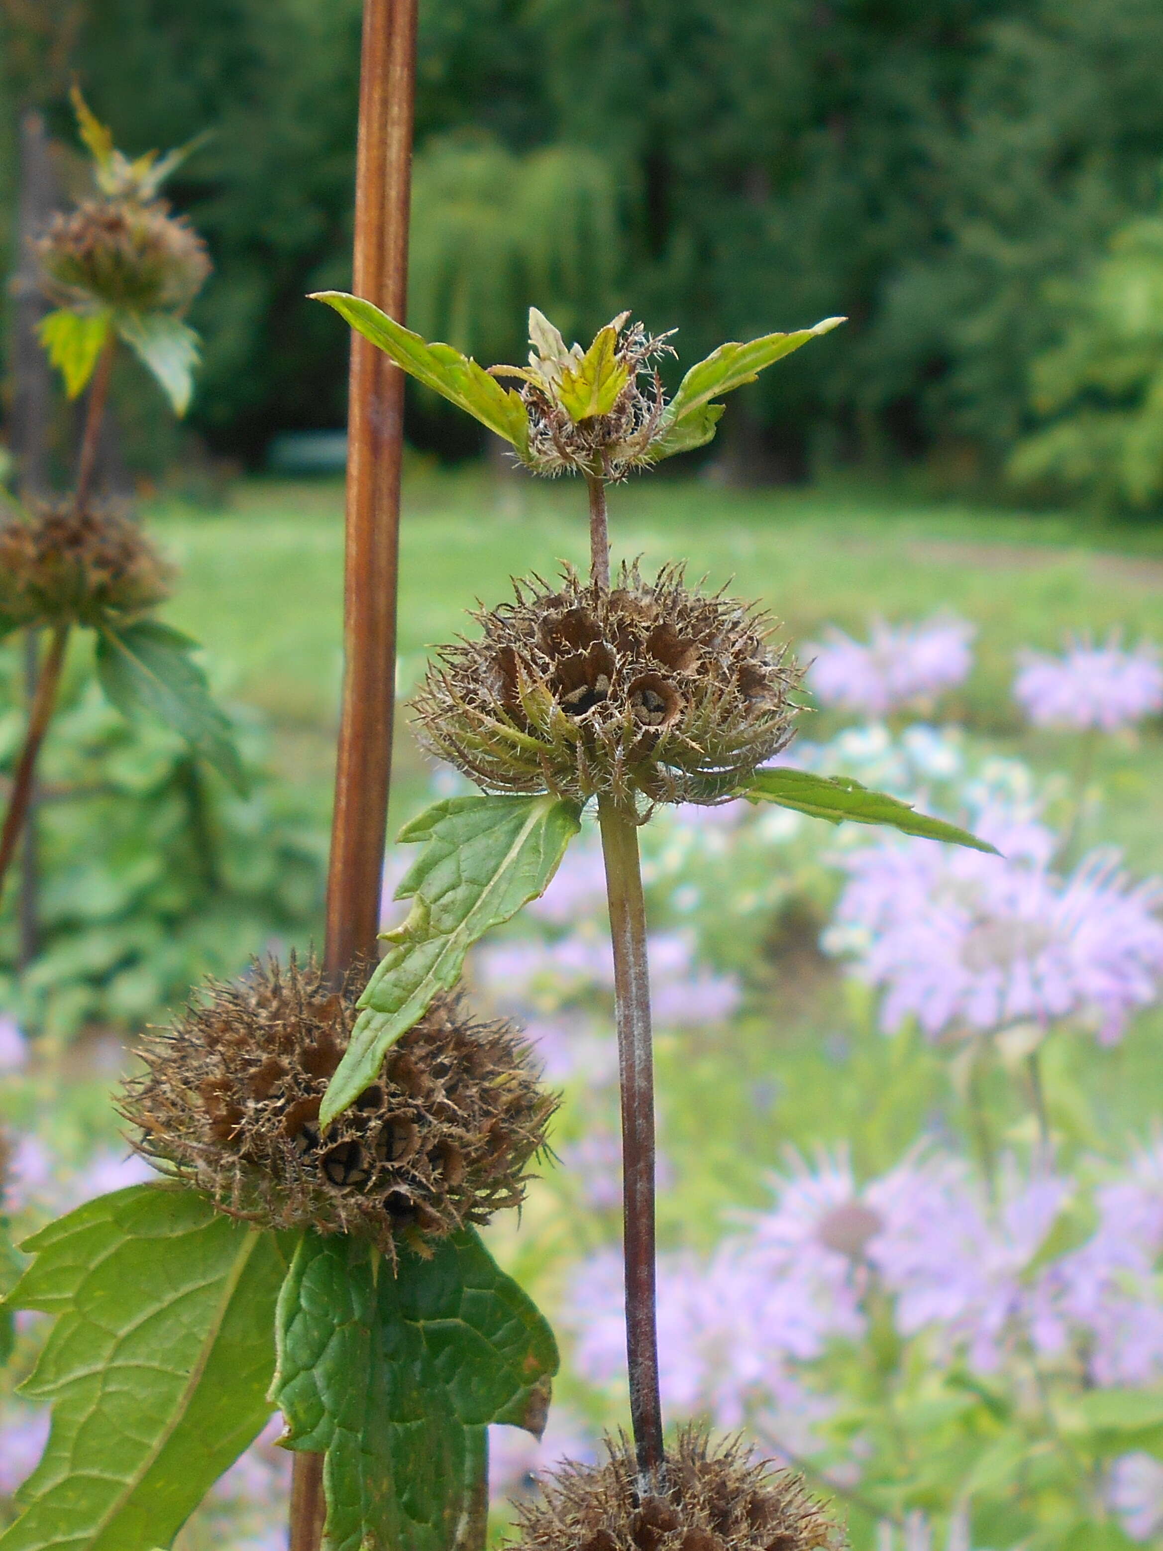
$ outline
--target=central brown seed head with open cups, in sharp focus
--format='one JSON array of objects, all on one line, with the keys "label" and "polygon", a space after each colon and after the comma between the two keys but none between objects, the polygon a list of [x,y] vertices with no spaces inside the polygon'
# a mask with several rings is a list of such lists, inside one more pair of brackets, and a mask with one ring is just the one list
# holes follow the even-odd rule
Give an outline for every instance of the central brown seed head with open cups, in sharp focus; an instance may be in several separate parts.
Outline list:
[{"label": "central brown seed head with open cups, in sharp focus", "polygon": [[484,639],[445,647],[414,709],[422,741],[488,791],[715,803],[792,735],[800,670],[772,622],[679,566],[623,566],[609,592],[535,579],[475,617]]}]

